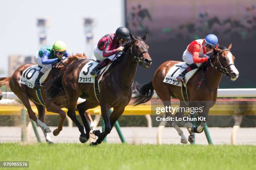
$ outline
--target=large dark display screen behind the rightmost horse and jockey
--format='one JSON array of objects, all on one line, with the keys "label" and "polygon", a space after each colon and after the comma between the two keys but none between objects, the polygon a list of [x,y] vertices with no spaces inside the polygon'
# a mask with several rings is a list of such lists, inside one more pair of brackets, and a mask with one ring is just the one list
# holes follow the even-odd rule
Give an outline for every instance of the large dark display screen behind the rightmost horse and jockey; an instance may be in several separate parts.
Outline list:
[{"label": "large dark display screen behind the rightmost horse and jockey", "polygon": [[152,80],[155,70],[167,60],[182,60],[187,45],[215,34],[232,54],[239,77],[225,76],[220,88],[255,87],[256,2],[252,0],[126,0],[126,26],[134,35],[148,32],[146,43],[153,60],[147,70],[138,67],[136,81]]}]

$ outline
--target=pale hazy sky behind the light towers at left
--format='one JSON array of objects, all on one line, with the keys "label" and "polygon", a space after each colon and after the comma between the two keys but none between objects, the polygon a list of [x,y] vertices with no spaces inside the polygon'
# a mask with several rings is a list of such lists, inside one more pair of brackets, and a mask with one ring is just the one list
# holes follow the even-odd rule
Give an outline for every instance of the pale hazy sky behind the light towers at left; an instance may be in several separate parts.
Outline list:
[{"label": "pale hazy sky behind the light towers at left", "polygon": [[[48,18],[47,43],[66,42],[71,52],[85,50],[83,18],[95,19],[94,44],[124,26],[124,0],[8,0],[0,10],[0,70],[8,75],[8,55],[33,55],[38,50],[37,18]],[[94,46],[95,46],[94,45]]]}]

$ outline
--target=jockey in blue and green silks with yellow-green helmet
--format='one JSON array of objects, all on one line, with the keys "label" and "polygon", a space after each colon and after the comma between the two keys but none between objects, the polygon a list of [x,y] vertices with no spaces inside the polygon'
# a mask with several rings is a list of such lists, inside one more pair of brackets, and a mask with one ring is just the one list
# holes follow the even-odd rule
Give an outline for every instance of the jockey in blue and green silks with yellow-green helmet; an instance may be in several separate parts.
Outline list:
[{"label": "jockey in blue and green silks with yellow-green helmet", "polygon": [[70,54],[67,52],[67,45],[63,41],[56,41],[52,46],[42,46],[36,55],[34,55],[36,64],[42,67],[35,81],[34,88],[39,89],[41,87],[39,80],[42,75],[51,68],[52,64],[64,60],[69,56]]}]

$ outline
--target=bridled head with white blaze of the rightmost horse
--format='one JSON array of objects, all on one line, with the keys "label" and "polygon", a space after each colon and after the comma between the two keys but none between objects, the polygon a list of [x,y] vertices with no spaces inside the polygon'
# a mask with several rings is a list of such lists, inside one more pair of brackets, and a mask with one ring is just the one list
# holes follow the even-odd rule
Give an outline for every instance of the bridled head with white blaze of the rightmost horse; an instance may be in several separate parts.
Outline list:
[{"label": "bridled head with white blaze of the rightmost horse", "polygon": [[223,46],[214,48],[214,55],[210,60],[210,64],[216,70],[230,77],[232,81],[235,81],[238,78],[239,72],[235,66],[235,57],[230,52],[231,47],[232,44],[230,44],[228,48]]}]

